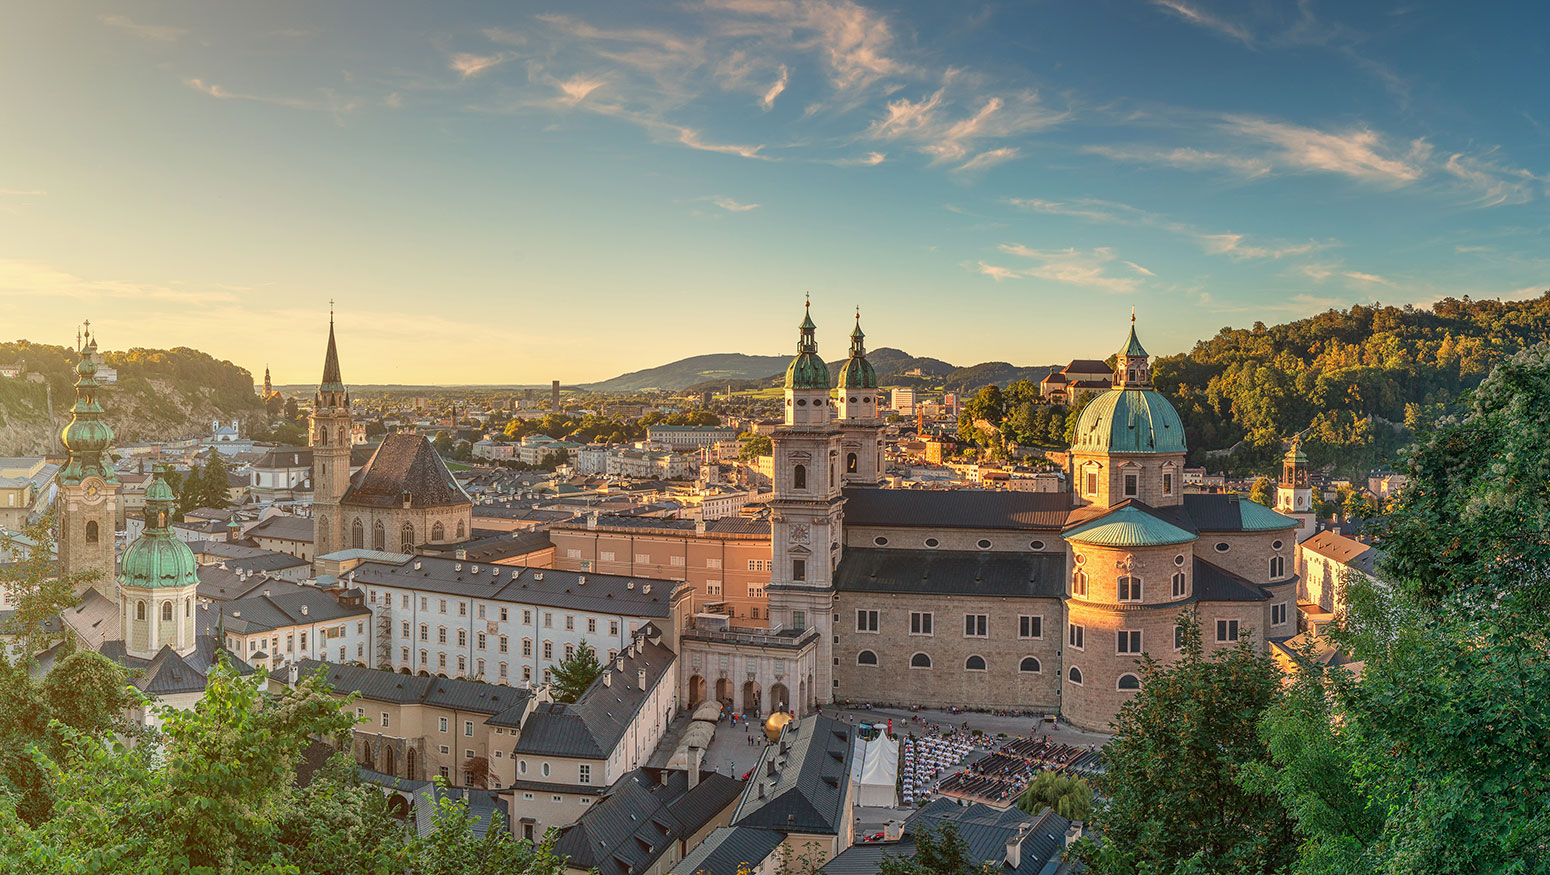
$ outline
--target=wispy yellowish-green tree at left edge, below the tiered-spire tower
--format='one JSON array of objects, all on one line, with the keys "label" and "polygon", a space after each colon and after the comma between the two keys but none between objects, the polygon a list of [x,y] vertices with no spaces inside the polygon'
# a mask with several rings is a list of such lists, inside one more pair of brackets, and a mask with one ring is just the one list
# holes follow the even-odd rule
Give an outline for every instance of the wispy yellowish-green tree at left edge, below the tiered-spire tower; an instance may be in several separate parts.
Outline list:
[{"label": "wispy yellowish-green tree at left edge, below the tiered-spire tower", "polygon": [[59,615],[79,601],[76,595],[96,582],[99,571],[62,575],[54,561],[54,510],[22,528],[22,536],[0,533],[0,590],[11,602],[9,616],[0,621],[0,633],[14,637],[20,650],[31,657],[68,633]]}]

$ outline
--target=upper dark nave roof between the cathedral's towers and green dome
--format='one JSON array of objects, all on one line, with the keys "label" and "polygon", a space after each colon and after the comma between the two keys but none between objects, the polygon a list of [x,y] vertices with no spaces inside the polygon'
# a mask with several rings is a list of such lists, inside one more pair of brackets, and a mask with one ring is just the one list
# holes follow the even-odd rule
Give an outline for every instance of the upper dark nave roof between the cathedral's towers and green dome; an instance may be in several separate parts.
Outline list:
[{"label": "upper dark nave roof between the cathedral's towers and green dome", "polygon": [[1057,531],[1070,510],[1070,492],[845,489],[848,527]]}]

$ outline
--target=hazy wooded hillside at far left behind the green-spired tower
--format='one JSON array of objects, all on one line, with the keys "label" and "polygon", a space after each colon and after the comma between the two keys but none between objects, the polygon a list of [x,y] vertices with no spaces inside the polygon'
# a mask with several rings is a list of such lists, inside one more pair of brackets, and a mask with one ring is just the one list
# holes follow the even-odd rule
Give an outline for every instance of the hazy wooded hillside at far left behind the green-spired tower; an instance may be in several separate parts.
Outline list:
[{"label": "hazy wooded hillside at far left behind the green-spired tower", "polygon": [[[198,350],[133,348],[104,358],[118,369],[118,383],[101,400],[121,443],[205,434],[212,418],[248,420],[262,410],[251,373]],[[54,435],[74,403],[76,353],[26,341],[0,344],[0,364],[14,362],[25,362],[26,373],[0,378],[0,455],[57,449]]]}]

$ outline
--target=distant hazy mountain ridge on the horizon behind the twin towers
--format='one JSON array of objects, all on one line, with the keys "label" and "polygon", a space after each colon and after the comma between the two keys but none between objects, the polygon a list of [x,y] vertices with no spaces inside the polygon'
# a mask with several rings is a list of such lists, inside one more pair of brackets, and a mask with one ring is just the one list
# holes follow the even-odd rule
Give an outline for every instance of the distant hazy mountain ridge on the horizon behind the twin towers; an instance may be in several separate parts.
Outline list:
[{"label": "distant hazy mountain ridge on the horizon behind the twin towers", "polygon": [[[958,367],[936,358],[911,356],[893,347],[868,350],[866,361],[877,370],[884,386],[941,386],[949,392],[973,392],[992,383],[1006,387],[1014,379],[1043,379],[1057,365],[1018,367],[1004,361]],[[592,392],[719,392],[730,383],[733,389],[760,389],[778,386],[784,378],[790,356],[747,356],[741,353],[718,353],[694,356],[625,373],[603,383],[583,386]],[[845,359],[829,362],[829,378],[840,373]]]}]

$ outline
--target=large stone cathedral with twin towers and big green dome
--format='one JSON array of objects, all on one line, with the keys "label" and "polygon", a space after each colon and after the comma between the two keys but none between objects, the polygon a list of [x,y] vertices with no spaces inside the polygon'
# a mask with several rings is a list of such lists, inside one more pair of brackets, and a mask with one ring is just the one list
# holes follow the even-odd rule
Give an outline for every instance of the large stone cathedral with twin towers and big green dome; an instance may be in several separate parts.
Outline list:
[{"label": "large stone cathedral with twin towers and big green dome", "polygon": [[[811,640],[787,669],[798,711],[1006,708],[1105,729],[1141,686],[1142,654],[1178,657],[1186,609],[1207,652],[1296,633],[1302,520],[1184,492],[1184,426],[1152,387],[1135,317],[1113,387],[1080,413],[1066,492],[879,488],[884,426],[860,321],[834,389],[815,331],[804,316],[770,437],[772,637]],[[1286,491],[1307,488],[1297,477],[1283,475]],[[770,655],[733,657],[696,661],[710,677],[691,675],[687,698],[738,669],[770,674]]]}]

